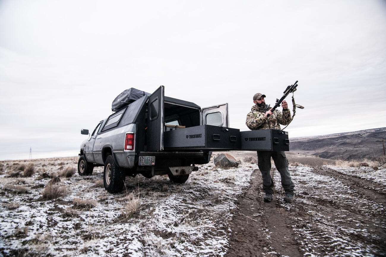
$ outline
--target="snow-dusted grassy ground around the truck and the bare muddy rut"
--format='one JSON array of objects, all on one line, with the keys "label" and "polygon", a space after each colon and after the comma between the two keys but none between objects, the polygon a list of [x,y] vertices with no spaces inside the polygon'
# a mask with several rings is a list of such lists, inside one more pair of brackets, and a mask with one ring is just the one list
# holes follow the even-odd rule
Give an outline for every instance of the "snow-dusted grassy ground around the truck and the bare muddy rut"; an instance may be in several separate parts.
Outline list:
[{"label": "snow-dusted grassy ground around the truck and the bare muddy rut", "polygon": [[[23,163],[28,162],[0,162],[0,254],[4,256],[227,255],[233,233],[230,224],[257,169],[256,164],[243,163],[222,170],[210,162],[183,185],[171,183],[167,176],[146,179],[138,175],[126,178],[123,193],[109,194],[101,183],[103,167],[96,167],[91,176],[80,177],[76,172],[61,178],[58,185],[66,187],[66,194],[44,200],[41,192],[50,178],[39,179],[42,173],[76,168],[77,159],[36,160],[37,172],[32,177],[10,177]],[[386,169],[293,166],[290,170],[297,189],[295,203],[285,204],[277,196],[276,208],[283,219],[291,217],[286,229],[294,235],[299,255],[379,254],[376,244],[385,238],[376,230],[386,231]],[[338,178],[340,174],[374,183],[375,188],[368,190],[376,192],[378,201],[357,193]],[[280,193],[277,172],[274,180]],[[13,185],[28,190],[18,191]],[[132,192],[139,208],[132,218],[123,220],[122,210]],[[95,206],[74,209],[76,198],[94,201]],[[264,218],[264,209],[255,212],[255,221]],[[271,233],[264,228],[264,238]],[[256,254],[277,256],[273,246],[265,249]]]}]

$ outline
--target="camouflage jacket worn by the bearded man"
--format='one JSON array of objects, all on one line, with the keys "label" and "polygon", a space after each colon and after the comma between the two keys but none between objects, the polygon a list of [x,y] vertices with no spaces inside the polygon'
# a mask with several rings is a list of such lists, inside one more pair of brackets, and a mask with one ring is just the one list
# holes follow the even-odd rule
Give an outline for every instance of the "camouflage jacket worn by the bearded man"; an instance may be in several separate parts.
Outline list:
[{"label": "camouflage jacket worn by the bearded man", "polygon": [[258,130],[258,129],[267,129],[274,128],[280,129],[281,125],[287,125],[291,122],[291,111],[285,110],[283,112],[279,110],[274,110],[273,114],[268,118],[264,118],[265,112],[259,110],[256,105],[252,106],[251,112],[247,115],[247,120],[245,124],[250,130]]}]

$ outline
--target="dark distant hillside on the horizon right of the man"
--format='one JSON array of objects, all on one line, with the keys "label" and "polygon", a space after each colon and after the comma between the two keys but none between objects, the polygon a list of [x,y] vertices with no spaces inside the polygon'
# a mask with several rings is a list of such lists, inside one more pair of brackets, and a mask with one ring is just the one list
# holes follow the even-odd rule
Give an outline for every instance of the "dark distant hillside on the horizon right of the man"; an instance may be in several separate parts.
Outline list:
[{"label": "dark distant hillside on the horizon right of the man", "polygon": [[382,139],[386,139],[386,127],[313,137],[295,137],[290,139],[289,150],[333,160],[351,161],[364,158],[374,160],[383,155],[382,142],[376,142]]}]

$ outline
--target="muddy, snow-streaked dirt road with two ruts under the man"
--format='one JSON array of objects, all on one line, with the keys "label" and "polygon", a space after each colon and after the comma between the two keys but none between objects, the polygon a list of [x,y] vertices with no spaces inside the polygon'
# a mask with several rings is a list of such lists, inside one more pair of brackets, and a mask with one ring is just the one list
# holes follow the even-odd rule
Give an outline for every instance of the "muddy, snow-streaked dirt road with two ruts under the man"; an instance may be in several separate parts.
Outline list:
[{"label": "muddy, snow-streaked dirt road with two ruts under the man", "polygon": [[294,203],[283,201],[278,172],[275,198],[262,201],[254,170],[231,221],[225,256],[385,256],[385,187],[369,169],[291,168]]}]

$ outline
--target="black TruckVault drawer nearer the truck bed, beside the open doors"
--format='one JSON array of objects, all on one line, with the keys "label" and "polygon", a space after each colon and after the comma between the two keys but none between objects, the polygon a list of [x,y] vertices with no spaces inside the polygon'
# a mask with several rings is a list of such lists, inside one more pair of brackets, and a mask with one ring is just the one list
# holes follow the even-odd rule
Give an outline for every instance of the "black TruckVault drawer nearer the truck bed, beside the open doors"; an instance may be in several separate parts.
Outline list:
[{"label": "black TruckVault drawer nearer the truck bed, beside the open doors", "polygon": [[240,149],[240,130],[201,125],[164,132],[164,149]]}]

